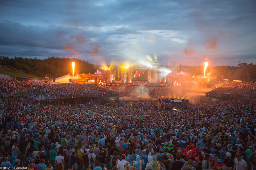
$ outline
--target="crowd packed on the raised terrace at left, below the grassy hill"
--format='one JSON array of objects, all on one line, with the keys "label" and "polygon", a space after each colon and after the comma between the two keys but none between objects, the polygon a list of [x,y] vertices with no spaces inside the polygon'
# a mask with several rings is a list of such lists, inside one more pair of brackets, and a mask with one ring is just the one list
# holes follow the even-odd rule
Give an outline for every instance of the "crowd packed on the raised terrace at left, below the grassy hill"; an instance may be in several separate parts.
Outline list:
[{"label": "crowd packed on the raised terrace at left, below the grassy hill", "polygon": [[[10,83],[12,81],[12,83]],[[116,91],[100,88],[91,84],[46,83],[41,81],[16,81],[9,79],[3,82],[8,93],[24,93],[24,97],[32,100],[60,99],[65,97],[78,97],[83,95],[109,96],[118,94]]]}]

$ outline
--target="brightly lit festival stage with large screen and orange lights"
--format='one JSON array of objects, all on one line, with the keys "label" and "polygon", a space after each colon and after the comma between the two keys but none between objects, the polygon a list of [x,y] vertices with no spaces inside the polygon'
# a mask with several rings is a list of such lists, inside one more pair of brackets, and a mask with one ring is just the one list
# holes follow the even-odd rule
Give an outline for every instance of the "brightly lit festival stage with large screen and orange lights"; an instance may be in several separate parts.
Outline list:
[{"label": "brightly lit festival stage with large screen and orange lights", "polygon": [[[174,64],[172,63],[174,62]],[[176,62],[176,63],[175,63]],[[158,62],[152,62],[147,66],[138,63],[138,65],[99,65],[94,74],[77,74],[74,75],[74,62],[72,62],[72,77],[70,83],[94,84],[94,85],[121,85],[121,84],[161,84],[172,82],[173,75],[178,75],[177,60],[170,60],[170,66],[159,66]],[[164,68],[164,69],[163,69]],[[171,69],[170,69],[171,68]],[[166,72],[163,76],[161,69]],[[78,71],[76,71],[78,72]],[[168,80],[168,81],[166,81]]]}]

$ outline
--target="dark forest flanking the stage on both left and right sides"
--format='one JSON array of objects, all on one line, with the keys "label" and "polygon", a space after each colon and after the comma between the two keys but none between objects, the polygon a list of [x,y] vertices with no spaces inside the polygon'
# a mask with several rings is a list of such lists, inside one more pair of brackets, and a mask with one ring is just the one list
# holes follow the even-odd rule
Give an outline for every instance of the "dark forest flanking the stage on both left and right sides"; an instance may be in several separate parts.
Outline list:
[{"label": "dark forest flanking the stage on both left and right sides", "polygon": [[[23,58],[23,57],[4,57],[0,56],[0,65],[9,65],[17,70],[22,70],[35,74],[49,75],[52,77],[60,77],[72,74],[71,62],[74,61],[75,75],[95,73],[99,69],[98,65],[82,61],[80,59],[49,57],[47,59]],[[185,66],[180,65],[179,70],[188,75],[202,75],[204,66]],[[223,75],[224,79],[242,80],[256,82],[256,64],[240,63],[238,66],[216,66],[206,69],[208,76]]]}]

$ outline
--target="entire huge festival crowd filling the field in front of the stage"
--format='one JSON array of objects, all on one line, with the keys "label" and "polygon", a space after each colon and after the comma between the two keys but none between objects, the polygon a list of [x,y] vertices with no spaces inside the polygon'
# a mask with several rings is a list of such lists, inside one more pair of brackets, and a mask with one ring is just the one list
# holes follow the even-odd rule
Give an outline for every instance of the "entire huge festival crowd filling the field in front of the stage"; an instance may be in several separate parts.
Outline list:
[{"label": "entire huge festival crowd filling the field in front of the stage", "polygon": [[[86,91],[79,85],[42,87],[53,95]],[[255,170],[256,83],[241,85],[250,91],[241,99],[208,103],[202,97],[182,111],[125,100],[42,105],[14,96],[28,89],[37,94],[41,85],[0,78],[0,161],[9,169]]]}]

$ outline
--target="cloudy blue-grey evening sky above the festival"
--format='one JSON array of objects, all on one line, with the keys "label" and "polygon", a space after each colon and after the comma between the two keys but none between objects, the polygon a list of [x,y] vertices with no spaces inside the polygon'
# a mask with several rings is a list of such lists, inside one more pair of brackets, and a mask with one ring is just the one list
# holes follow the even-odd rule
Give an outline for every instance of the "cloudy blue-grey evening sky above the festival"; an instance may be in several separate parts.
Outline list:
[{"label": "cloudy blue-grey evening sky above the festival", "polygon": [[256,1],[2,0],[0,54],[94,64],[255,64]]}]

